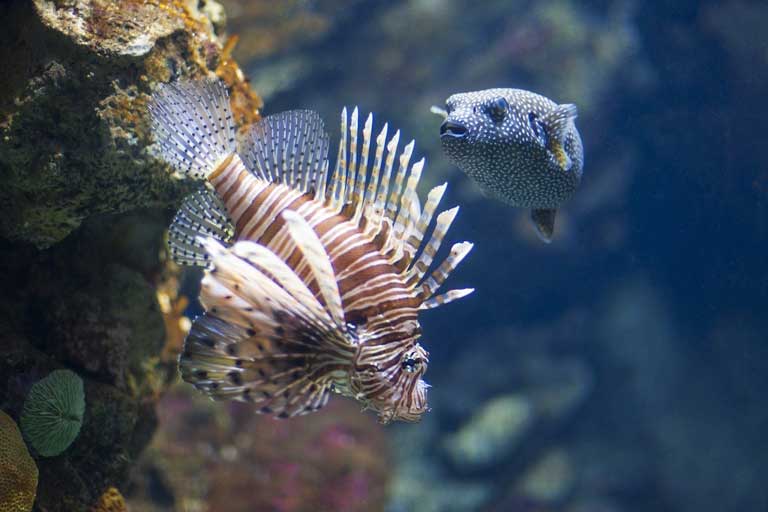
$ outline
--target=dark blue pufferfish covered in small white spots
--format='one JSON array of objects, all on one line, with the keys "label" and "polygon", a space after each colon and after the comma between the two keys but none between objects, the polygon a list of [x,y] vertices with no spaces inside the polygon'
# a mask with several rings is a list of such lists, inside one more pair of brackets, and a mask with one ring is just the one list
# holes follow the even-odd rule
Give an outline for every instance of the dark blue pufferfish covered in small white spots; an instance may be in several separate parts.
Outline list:
[{"label": "dark blue pufferfish covered in small white spots", "polygon": [[440,141],[460,169],[491,197],[530,208],[549,243],[557,209],[581,181],[584,150],[576,105],[522,89],[487,89],[446,100]]}]

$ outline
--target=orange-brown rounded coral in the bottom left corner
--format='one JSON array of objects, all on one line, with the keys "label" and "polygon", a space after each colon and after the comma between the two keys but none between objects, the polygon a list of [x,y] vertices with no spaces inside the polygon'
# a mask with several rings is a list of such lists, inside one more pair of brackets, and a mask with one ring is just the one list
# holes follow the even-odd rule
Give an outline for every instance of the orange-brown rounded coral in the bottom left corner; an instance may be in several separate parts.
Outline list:
[{"label": "orange-brown rounded coral in the bottom left corner", "polygon": [[37,466],[19,427],[0,411],[0,512],[29,512],[37,492]]}]

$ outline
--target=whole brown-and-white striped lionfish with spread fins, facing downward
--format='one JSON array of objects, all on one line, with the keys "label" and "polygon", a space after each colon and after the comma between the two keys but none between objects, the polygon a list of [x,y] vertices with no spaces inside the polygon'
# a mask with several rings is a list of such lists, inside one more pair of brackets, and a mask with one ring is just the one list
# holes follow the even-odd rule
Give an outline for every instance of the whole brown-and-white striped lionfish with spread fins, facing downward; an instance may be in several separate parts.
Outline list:
[{"label": "whole brown-and-white striped lionfish with spread fins, facing downward", "polygon": [[382,423],[419,420],[429,385],[418,313],[473,290],[436,295],[472,244],[433,265],[458,207],[432,222],[446,185],[422,205],[414,142],[398,152],[400,132],[387,140],[385,124],[371,166],[372,116],[360,141],[357,109],[349,120],[344,109],[329,173],[315,112],[265,117],[238,143],[218,81],[161,86],[149,110],[158,155],[204,182],[169,229],[172,258],[206,268],[183,379],[277,418],[317,411],[339,393]]}]

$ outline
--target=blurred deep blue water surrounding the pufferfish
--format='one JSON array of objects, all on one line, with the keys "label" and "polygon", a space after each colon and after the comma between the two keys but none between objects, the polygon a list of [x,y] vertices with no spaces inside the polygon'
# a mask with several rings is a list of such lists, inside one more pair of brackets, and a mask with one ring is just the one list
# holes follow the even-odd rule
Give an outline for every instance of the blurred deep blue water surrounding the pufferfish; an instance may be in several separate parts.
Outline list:
[{"label": "blurred deep blue water surrounding the pufferfish", "polygon": [[[475,295],[423,316],[434,410],[421,463],[435,481],[472,482],[486,498],[457,505],[425,491],[392,509],[768,510],[768,10],[540,3],[569,13],[552,22],[528,2],[405,4],[392,11],[420,28],[353,25],[322,46],[333,64],[267,99],[268,109],[311,106],[326,119],[359,102],[404,127],[427,156],[425,176],[445,177],[447,203],[462,205],[452,239],[475,242],[451,280]],[[621,55],[609,62],[593,45]],[[377,67],[392,54],[400,60]],[[551,246],[531,237],[525,212],[473,190],[435,143],[429,106],[489,87],[580,106],[584,180]],[[457,467],[446,436],[485,401],[535,387],[528,359],[578,361],[589,393],[494,464]],[[575,483],[549,502],[510,491],[552,446],[571,455]]]}]

